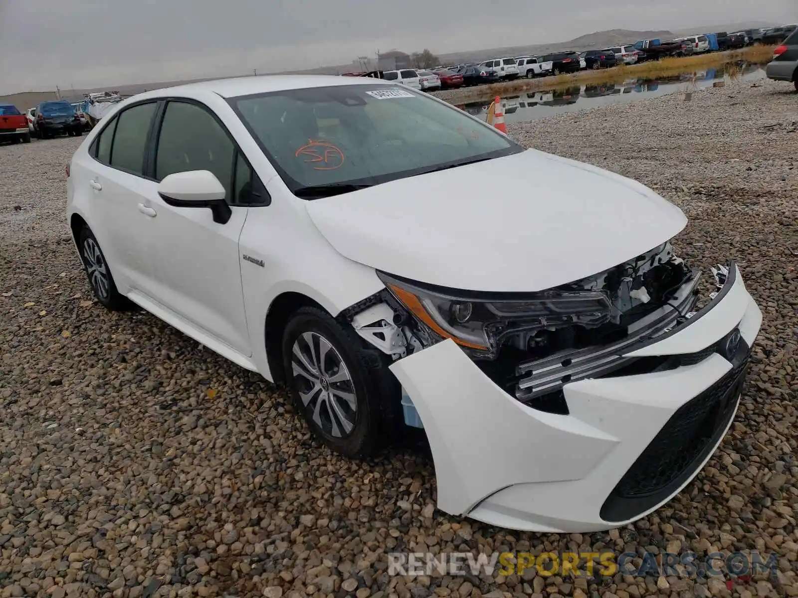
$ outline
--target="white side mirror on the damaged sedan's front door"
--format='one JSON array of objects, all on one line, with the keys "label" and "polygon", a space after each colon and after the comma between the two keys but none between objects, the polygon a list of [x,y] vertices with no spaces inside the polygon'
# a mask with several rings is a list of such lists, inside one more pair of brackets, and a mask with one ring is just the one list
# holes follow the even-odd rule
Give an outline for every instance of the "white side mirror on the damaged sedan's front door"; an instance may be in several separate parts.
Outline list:
[{"label": "white side mirror on the damaged sedan's front door", "polygon": [[213,221],[224,224],[233,214],[224,201],[226,191],[211,171],[176,172],[158,183],[158,195],[175,207],[207,207]]}]

